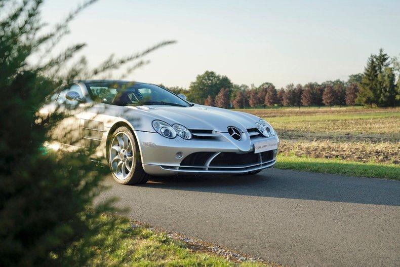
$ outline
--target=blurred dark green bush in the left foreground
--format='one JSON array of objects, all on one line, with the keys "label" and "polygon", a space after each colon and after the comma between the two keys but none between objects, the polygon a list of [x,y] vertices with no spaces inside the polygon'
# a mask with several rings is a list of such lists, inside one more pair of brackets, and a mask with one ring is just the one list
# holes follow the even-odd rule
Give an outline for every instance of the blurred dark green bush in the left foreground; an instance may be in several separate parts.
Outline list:
[{"label": "blurred dark green bush in the left foreground", "polygon": [[[44,120],[35,111],[61,84],[113,70],[172,43],[122,59],[109,57],[93,70],[88,70],[85,58],[72,64],[73,68],[66,67],[84,44],[49,55],[68,32],[71,19],[94,2],[78,6],[53,30],[43,33],[42,0],[0,1],[0,266],[62,264],[65,250],[84,235],[90,239],[98,233],[100,214],[112,210],[111,201],[92,206],[107,169],[90,163],[90,150],[74,154],[44,150],[52,127],[62,118]],[[69,264],[83,265],[88,260],[90,255],[79,256]]]}]

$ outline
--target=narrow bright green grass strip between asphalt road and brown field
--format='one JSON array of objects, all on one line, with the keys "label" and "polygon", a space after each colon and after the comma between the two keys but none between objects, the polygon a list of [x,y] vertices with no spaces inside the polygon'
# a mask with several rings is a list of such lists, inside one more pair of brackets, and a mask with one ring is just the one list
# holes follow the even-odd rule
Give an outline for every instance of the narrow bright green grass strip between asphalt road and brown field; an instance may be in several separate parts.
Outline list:
[{"label": "narrow bright green grass strip between asphalt road and brown field", "polygon": [[313,159],[279,155],[275,167],[278,169],[400,180],[400,167],[394,164],[361,163],[337,159]]}]

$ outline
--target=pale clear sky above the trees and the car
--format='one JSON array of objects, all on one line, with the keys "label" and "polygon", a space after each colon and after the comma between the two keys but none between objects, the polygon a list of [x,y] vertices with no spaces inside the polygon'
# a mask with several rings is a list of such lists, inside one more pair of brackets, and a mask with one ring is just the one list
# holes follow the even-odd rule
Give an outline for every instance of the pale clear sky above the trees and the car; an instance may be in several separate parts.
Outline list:
[{"label": "pale clear sky above the trees and the car", "polygon": [[[82,1],[47,0],[55,23]],[[400,53],[400,1],[100,0],[70,25],[64,45],[86,42],[91,65],[109,54],[178,43],[146,57],[130,80],[188,87],[214,70],[235,84],[346,80],[383,48]]]}]

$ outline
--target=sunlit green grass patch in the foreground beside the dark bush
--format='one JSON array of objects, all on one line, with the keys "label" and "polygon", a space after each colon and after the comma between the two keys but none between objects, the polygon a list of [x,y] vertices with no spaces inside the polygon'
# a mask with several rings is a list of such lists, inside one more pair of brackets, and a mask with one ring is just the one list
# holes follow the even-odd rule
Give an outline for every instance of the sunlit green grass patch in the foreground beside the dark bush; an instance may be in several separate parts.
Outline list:
[{"label": "sunlit green grass patch in the foreground beside the dark bush", "polygon": [[132,227],[129,219],[104,214],[93,221],[91,228],[100,234],[88,233],[71,246],[62,265],[89,266],[265,266],[257,262],[234,263],[204,252],[196,252],[187,244],[144,227]]}]

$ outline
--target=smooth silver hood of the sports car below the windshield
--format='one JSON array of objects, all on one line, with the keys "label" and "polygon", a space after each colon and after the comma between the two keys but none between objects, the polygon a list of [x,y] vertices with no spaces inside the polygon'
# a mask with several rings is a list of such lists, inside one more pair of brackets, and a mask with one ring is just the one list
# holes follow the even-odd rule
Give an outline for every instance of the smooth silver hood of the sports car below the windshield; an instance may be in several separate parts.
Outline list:
[{"label": "smooth silver hood of the sports car below the windshield", "polygon": [[223,108],[194,105],[191,107],[176,107],[165,105],[151,105],[131,107],[150,115],[155,120],[166,123],[181,124],[188,129],[214,130],[227,132],[229,126],[234,126],[246,132],[255,128],[259,118],[244,112],[232,111]]}]

